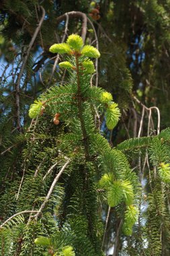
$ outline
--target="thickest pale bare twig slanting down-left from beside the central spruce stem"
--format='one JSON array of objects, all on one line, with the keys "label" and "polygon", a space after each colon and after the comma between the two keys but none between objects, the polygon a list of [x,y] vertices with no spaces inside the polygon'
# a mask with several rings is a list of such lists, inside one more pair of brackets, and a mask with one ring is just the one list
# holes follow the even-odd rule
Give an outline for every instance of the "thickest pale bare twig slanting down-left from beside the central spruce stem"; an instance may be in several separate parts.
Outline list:
[{"label": "thickest pale bare twig slanting down-left from beside the central spruce stem", "polygon": [[44,206],[46,205],[48,199],[50,198],[50,195],[52,194],[52,191],[54,189],[54,186],[56,185],[58,179],[60,178],[62,172],[64,172],[65,168],[67,168],[68,164],[71,162],[71,160],[69,159],[64,166],[62,166],[62,168],[60,169],[60,172],[58,172],[58,174],[56,175],[54,181],[52,182],[52,185],[48,191],[48,194],[46,195],[46,198],[44,199],[44,202],[42,203],[42,205],[40,206],[40,209],[38,210],[37,214],[35,216],[32,216],[34,218],[38,218],[38,216],[40,215],[40,213],[42,212],[42,210],[44,209]]}]

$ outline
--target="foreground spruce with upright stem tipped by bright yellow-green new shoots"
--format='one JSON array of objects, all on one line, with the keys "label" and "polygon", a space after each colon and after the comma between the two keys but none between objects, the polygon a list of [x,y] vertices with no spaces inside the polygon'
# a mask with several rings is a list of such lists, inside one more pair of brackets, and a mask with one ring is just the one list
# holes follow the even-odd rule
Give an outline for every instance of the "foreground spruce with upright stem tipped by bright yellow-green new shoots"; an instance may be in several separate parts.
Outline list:
[{"label": "foreground spruce with upright stem tipped by bright yellow-green new shoots", "polygon": [[[15,222],[21,222],[19,233],[22,243],[18,248],[12,242],[13,236],[11,236],[11,241],[8,241],[8,244],[6,243],[7,241],[4,241],[3,246],[6,253],[9,250],[13,250],[13,252],[19,251],[20,255],[23,253],[28,253],[29,255],[36,251],[38,255],[38,249],[33,249],[34,238],[38,236],[38,232],[43,233],[45,226],[49,225],[49,216],[47,218],[46,214],[49,215],[51,207],[49,200],[56,187],[56,197],[60,197],[58,192],[60,190],[62,191],[62,197],[60,198],[60,203],[57,202],[55,205],[58,210],[55,213],[57,216],[54,234],[52,234],[52,230],[50,232],[46,230],[46,236],[51,235],[52,238],[40,236],[36,238],[35,243],[48,247],[49,255],[57,255],[58,253],[67,255],[65,251],[68,251],[68,255],[74,255],[74,251],[77,255],[103,255],[101,251],[103,228],[101,220],[99,220],[101,216],[97,213],[99,207],[97,187],[98,190],[102,189],[110,206],[120,205],[120,208],[124,209],[123,229],[125,234],[131,234],[132,226],[136,222],[138,215],[137,207],[134,206],[138,203],[136,175],[131,172],[124,154],[110,148],[108,141],[97,131],[94,122],[94,106],[99,113],[105,111],[105,121],[109,129],[113,129],[118,123],[120,110],[117,104],[112,101],[110,93],[101,88],[91,87],[91,73],[95,72],[95,68],[89,58],[98,58],[100,56],[97,49],[90,45],[83,46],[82,38],[72,34],[67,39],[67,43],[54,44],[50,47],[50,51],[60,54],[67,53],[71,56],[68,57],[67,61],[59,64],[60,67],[65,67],[69,70],[70,82],[65,86],[54,86],[48,92],[42,94],[32,104],[29,115],[35,119],[38,115],[46,113],[45,115],[54,117],[54,125],[62,122],[63,127],[68,127],[67,131],[58,137],[55,150],[56,154],[58,154],[56,161],[60,162],[62,167],[54,177],[46,197],[42,197],[40,200],[42,203],[38,202],[38,198],[32,197],[24,205],[22,194],[26,196],[30,179],[25,177],[25,181],[20,183],[17,193],[17,207],[21,212],[20,214],[18,213],[19,217],[16,218]],[[39,136],[36,137],[36,134],[34,134],[34,139],[39,139]],[[27,160],[28,163],[26,163],[26,159],[29,153],[25,153],[24,156],[24,168],[26,168],[28,177],[30,176],[30,161]],[[32,157],[30,159],[31,162]],[[27,164],[28,166],[26,166]],[[99,168],[100,165],[102,166],[101,168]],[[51,171],[52,167],[44,174],[44,170],[39,171],[40,173],[37,170],[34,174],[35,185],[32,184],[31,189],[31,193],[35,193],[34,196],[37,194],[40,197],[41,193],[42,196],[45,194],[48,188],[46,186],[49,184],[46,183],[46,177],[47,174],[51,174]],[[58,179],[61,181],[61,176],[64,172],[66,172],[64,175],[67,183],[59,185],[57,183]],[[99,177],[101,178],[100,181]],[[40,186],[36,187],[36,184],[38,185],[37,182],[41,184],[41,188]],[[19,200],[19,197],[22,198],[22,201]],[[36,201],[34,201],[35,199]],[[25,224],[23,224],[20,215],[27,214],[28,205],[32,209],[30,210],[31,215],[28,219],[24,218]],[[52,205],[54,205],[54,201]],[[51,209],[50,212],[52,214],[53,210]],[[9,223],[12,224],[12,221],[13,219],[9,218]],[[53,220],[53,222],[55,221]],[[8,221],[6,223],[8,226]],[[1,228],[3,226],[5,226],[5,223],[1,225]],[[34,235],[30,228],[32,228],[32,232],[34,230]],[[66,238],[67,229],[70,230],[69,238]],[[4,230],[1,229],[2,238],[5,236],[5,232],[6,228]],[[65,238],[66,241],[60,240],[60,236],[64,236],[63,239]],[[13,243],[12,249],[11,243]],[[58,247],[58,243],[60,247]],[[82,243],[84,243],[85,248],[82,247]],[[9,247],[7,248],[7,246]]]}]

